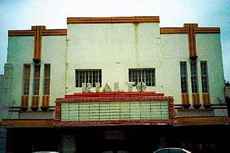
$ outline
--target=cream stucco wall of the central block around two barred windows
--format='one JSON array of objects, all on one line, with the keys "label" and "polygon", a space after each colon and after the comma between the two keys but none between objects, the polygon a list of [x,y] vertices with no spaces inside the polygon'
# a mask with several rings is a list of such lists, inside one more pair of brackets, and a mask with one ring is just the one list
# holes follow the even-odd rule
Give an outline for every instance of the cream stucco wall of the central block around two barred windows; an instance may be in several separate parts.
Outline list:
[{"label": "cream stucco wall of the central block around two barred windows", "polygon": [[127,91],[129,68],[158,67],[160,52],[159,24],[68,24],[67,93],[75,87],[75,69],[102,69],[102,84],[119,82]]}]

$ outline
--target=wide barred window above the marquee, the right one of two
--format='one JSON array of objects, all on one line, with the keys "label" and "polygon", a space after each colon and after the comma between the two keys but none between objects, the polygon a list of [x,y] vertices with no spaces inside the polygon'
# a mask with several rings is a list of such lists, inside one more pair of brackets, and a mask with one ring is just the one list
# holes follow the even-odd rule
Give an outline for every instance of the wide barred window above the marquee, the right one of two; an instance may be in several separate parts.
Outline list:
[{"label": "wide barred window above the marquee, the right one of two", "polygon": [[129,82],[144,82],[147,86],[155,86],[155,69],[138,68],[129,69]]}]

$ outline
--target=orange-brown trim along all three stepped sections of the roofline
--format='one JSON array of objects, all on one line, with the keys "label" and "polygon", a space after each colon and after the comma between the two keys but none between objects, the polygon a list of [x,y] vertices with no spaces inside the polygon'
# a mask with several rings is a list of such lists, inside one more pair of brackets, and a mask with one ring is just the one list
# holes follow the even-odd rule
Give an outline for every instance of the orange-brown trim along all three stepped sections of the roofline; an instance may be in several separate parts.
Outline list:
[{"label": "orange-brown trim along all three stepped sections of the roofline", "polygon": [[[103,24],[103,23],[160,23],[159,16],[133,17],[68,17],[67,24]],[[198,34],[220,33],[220,27],[198,27],[197,23],[185,23],[183,27],[160,27],[160,34],[186,34],[194,27]],[[67,29],[46,29],[45,26],[32,26],[31,30],[8,30],[8,36],[34,36],[36,27],[41,28],[42,36],[66,36]]]}]

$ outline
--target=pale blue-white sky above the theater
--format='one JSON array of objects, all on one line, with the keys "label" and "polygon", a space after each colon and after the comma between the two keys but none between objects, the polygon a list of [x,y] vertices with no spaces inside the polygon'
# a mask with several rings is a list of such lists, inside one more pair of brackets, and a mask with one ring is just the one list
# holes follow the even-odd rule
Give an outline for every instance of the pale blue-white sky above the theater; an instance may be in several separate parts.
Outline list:
[{"label": "pale blue-white sky above the theater", "polygon": [[230,0],[0,0],[0,74],[7,57],[8,30],[31,25],[66,28],[67,17],[160,16],[160,26],[218,26],[225,80],[230,81]]}]

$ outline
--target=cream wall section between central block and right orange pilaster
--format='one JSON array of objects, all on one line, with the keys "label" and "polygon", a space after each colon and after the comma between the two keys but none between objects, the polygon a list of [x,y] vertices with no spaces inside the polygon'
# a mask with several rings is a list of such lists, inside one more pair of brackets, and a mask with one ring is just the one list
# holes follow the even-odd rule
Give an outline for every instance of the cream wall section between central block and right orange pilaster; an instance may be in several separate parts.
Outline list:
[{"label": "cream wall section between central block and right orange pilaster", "polygon": [[158,79],[162,92],[173,96],[175,104],[181,104],[180,61],[187,62],[188,88],[191,89],[187,34],[161,34],[160,46],[162,61]]}]

